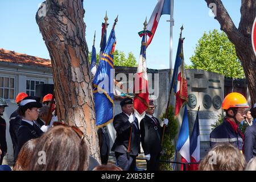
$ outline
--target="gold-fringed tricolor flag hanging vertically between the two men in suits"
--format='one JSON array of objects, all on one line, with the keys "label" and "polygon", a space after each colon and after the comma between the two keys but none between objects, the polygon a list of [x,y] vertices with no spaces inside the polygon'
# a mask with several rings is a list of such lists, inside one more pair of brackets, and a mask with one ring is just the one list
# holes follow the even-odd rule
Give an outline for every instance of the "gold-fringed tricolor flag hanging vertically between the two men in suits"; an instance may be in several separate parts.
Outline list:
[{"label": "gold-fringed tricolor flag hanging vertically between the two men in suits", "polygon": [[148,107],[148,81],[147,81],[147,65],[146,65],[146,36],[144,32],[141,44],[141,55],[139,56],[139,65],[135,75],[134,84],[134,109],[142,114]]}]

